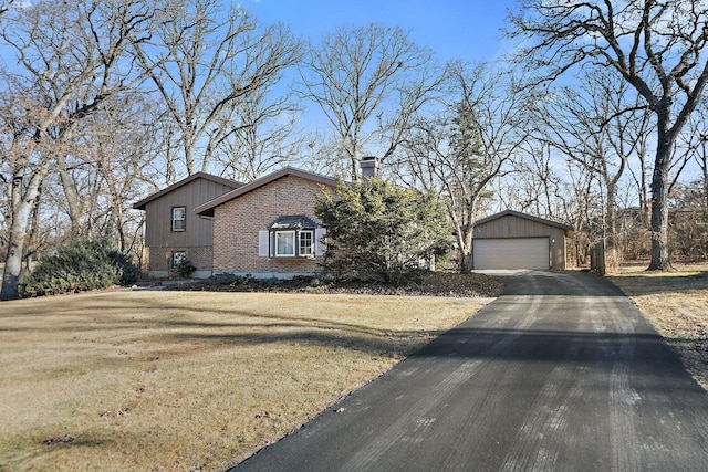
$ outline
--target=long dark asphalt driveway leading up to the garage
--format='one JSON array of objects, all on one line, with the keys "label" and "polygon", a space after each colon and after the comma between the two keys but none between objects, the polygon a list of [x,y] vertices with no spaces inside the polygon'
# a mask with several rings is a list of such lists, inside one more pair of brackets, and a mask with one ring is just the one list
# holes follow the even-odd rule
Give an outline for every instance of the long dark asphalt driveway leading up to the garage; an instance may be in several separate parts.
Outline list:
[{"label": "long dark asphalt driveway leading up to the garage", "polygon": [[608,282],[494,302],[235,471],[705,471],[708,394]]}]

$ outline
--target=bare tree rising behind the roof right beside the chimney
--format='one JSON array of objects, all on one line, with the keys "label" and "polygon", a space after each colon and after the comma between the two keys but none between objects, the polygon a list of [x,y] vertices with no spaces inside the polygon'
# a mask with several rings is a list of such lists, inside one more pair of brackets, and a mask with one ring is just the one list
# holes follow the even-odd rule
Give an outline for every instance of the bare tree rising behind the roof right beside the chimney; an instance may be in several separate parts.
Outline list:
[{"label": "bare tree rising behind the roof right beside the chimney", "polygon": [[437,87],[433,53],[400,28],[340,28],[311,44],[299,94],[324,113],[352,179],[363,156],[391,157]]}]

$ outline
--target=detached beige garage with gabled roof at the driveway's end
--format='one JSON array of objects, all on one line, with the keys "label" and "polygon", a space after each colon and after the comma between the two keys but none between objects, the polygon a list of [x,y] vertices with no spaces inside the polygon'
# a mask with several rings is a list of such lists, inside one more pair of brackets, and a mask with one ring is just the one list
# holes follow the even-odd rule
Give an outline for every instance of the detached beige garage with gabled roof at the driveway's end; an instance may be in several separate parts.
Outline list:
[{"label": "detached beige garage with gabled roof at the driveway's end", "polygon": [[506,210],[477,221],[472,266],[482,269],[565,270],[565,238],[573,228]]}]

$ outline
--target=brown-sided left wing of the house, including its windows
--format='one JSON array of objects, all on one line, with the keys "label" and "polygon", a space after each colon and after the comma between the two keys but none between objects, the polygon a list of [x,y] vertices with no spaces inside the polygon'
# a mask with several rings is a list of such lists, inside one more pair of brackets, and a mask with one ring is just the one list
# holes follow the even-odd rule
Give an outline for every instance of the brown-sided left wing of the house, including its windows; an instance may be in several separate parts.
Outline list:
[{"label": "brown-sided left wing of the house, including its windows", "polygon": [[212,222],[195,214],[194,209],[243,183],[209,174],[192,174],[136,202],[145,211],[145,254],[152,277],[174,275],[185,260],[196,268],[192,276],[212,273]]}]

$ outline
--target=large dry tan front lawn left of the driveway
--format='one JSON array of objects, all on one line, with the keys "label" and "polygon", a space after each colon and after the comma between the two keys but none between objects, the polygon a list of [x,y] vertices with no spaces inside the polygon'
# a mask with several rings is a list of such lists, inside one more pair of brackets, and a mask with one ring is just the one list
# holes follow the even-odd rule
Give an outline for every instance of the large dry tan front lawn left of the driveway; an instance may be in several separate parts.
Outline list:
[{"label": "large dry tan front lawn left of the driveway", "polygon": [[0,470],[220,470],[481,300],[110,291],[0,304]]}]

